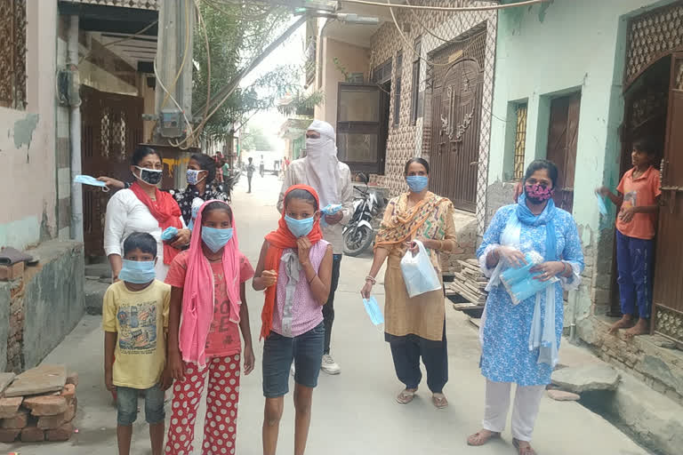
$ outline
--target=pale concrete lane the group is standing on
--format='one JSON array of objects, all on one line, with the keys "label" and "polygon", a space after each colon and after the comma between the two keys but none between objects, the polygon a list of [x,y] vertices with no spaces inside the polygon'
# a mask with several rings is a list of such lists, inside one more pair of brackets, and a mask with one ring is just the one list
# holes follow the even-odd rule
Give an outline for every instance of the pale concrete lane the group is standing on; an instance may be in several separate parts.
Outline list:
[{"label": "pale concrete lane the group is standing on", "polygon": [[[275,177],[254,176],[253,194],[245,194],[246,179],[234,197],[241,249],[255,267],[263,235],[276,227],[275,203],[280,182]],[[342,260],[342,278],[335,302],[333,356],[342,366],[336,377],[321,373],[314,395],[313,422],[307,453],[311,455],[499,455],[516,451],[510,434],[483,447],[465,443],[479,428],[483,411],[484,379],[478,371],[478,337],[466,318],[447,308],[450,382],[445,393],[450,406],[437,410],[426,384],[413,403],[400,405],[394,396],[402,388],[395,377],[390,349],[382,332],[365,314],[359,289],[370,266],[366,258]],[[382,286],[378,286],[378,291]],[[382,304],[383,295],[378,292]],[[262,294],[248,292],[253,333],[260,328]],[[78,434],[68,443],[0,444],[0,453],[21,455],[85,455],[117,453],[116,409],[102,381],[100,319],[86,316],[45,363],[67,363],[80,373]],[[261,454],[262,345],[255,339],[257,368],[242,379],[237,453]],[[561,351],[560,351],[561,352]],[[287,397],[280,429],[279,454],[293,452],[293,405]],[[142,404],[142,403],[141,403]],[[200,424],[199,424],[200,425]],[[201,431],[197,431],[201,437]],[[558,403],[544,398],[534,434],[534,448],[543,455],[646,454],[626,435],[578,403]],[[148,454],[149,436],[144,416],[138,417],[133,453]],[[196,446],[199,444],[195,444]],[[199,453],[197,451],[197,453]]]}]

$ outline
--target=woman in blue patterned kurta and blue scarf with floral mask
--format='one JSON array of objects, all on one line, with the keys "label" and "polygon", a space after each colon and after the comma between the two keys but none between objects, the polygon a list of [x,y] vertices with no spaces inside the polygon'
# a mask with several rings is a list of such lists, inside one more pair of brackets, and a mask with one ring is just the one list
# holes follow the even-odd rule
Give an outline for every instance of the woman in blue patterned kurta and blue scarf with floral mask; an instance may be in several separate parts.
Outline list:
[{"label": "woman in blue patterned kurta and blue scarf with floral mask", "polygon": [[[555,164],[545,160],[530,164],[518,204],[495,213],[477,251],[482,270],[491,281],[480,330],[486,406],[483,428],[470,435],[470,445],[500,437],[510,407],[510,387],[515,383],[512,443],[519,455],[535,454],[529,442],[543,391],[557,363],[563,290],[576,289],[583,271],[575,220],[552,200],[557,180]],[[531,251],[543,259],[531,269],[539,273],[535,278],[554,283],[515,305],[499,275],[509,264],[526,263]]]}]

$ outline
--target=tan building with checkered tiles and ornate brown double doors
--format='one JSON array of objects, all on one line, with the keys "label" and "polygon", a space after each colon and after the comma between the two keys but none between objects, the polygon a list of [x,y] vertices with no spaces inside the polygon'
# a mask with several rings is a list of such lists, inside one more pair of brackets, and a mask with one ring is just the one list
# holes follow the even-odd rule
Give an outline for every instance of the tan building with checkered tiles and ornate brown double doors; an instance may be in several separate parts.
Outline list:
[{"label": "tan building with checkered tiles and ornate brown double doors", "polygon": [[[443,2],[485,6],[494,2]],[[345,11],[342,11],[345,12]],[[430,189],[456,208],[459,246],[472,258],[485,227],[497,14],[350,7],[376,26],[328,21],[317,36],[316,118],[333,124],[340,159],[391,196],[406,191],[404,166],[430,162]]]}]

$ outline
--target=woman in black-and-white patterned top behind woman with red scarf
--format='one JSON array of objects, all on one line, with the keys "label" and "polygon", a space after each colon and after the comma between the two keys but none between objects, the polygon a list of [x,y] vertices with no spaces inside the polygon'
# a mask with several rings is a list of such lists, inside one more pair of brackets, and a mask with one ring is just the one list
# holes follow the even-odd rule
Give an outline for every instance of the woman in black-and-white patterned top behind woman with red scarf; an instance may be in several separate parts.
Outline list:
[{"label": "woman in black-and-white patterned top behind woman with red scarf", "polygon": [[[211,200],[230,202],[229,186],[216,182],[216,163],[211,156],[201,153],[190,156],[186,176],[186,188],[167,190],[181,207],[182,219],[186,225],[189,226],[192,220],[192,203],[197,198],[200,204],[196,203],[196,206]],[[100,177],[98,180],[106,183],[108,188],[131,188],[133,185],[111,177]]]}]

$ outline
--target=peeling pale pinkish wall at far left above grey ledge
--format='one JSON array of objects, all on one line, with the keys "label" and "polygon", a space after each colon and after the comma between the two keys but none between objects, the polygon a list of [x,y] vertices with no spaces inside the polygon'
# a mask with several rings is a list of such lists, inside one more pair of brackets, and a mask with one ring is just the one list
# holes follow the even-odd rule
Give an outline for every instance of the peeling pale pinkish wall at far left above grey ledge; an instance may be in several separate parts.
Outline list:
[{"label": "peeling pale pinkish wall at far left above grey ledge", "polygon": [[56,235],[57,2],[28,0],[26,16],[27,107],[0,108],[0,246],[15,248]]}]

